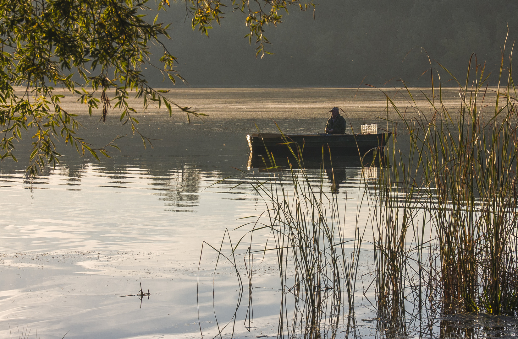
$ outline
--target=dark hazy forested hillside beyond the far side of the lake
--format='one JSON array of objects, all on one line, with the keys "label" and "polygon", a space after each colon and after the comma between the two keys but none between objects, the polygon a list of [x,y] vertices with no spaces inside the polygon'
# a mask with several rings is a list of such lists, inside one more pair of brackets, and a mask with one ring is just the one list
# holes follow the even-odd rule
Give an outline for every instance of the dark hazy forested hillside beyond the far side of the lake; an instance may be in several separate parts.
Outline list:
[{"label": "dark hazy forested hillside beyond the far side of the lake", "polygon": [[[263,59],[255,58],[253,41],[243,39],[246,16],[231,7],[209,38],[192,31],[182,2],[171,2],[159,21],[172,22],[167,46],[196,87],[357,86],[390,79],[429,85],[429,73],[421,76],[430,67],[424,51],[459,79],[475,52],[495,80],[507,25],[506,51],[518,37],[518,4],[509,0],[320,0],[315,20],[312,11],[289,10],[282,24],[266,31],[275,54]],[[440,73],[442,81],[451,79]],[[148,77],[155,86],[170,86],[155,73]]]}]

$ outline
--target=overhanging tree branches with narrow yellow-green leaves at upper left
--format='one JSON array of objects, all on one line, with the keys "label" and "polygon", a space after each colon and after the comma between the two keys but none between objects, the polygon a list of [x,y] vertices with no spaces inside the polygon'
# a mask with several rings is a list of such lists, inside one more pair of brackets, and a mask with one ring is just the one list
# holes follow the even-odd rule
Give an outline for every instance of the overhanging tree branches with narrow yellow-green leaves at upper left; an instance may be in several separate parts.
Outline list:
[{"label": "overhanging tree branches with narrow yellow-green leaves at upper left", "polygon": [[[142,75],[142,68],[150,66],[175,83],[184,79],[176,70],[176,57],[161,39],[169,39],[169,25],[157,23],[159,11],[168,8],[169,1],[156,2],[148,7],[148,0],[38,0],[32,2],[0,0],[0,124],[2,140],[0,158],[17,160],[15,142],[22,130],[33,135],[33,150],[27,171],[35,175],[46,164],[59,162],[55,141],[63,140],[84,155],[98,153],[105,156],[108,145],[94,148],[77,135],[76,114],[61,105],[60,92],[55,86],[79,95],[89,112],[102,109],[106,120],[108,109],[118,109],[120,120],[129,123],[133,133],[139,134],[144,146],[151,140],[138,132],[137,110],[130,104],[133,94],[148,105],[165,106],[169,114],[177,108],[190,115],[200,116],[191,107],[182,107],[164,96],[168,91],[155,90]],[[184,0],[185,10],[192,18],[193,29],[208,35],[215,22],[224,18],[222,9],[246,14],[250,33],[246,36],[257,45],[256,55],[268,53],[264,26],[281,22],[281,10],[298,5],[301,10],[313,8],[311,0]],[[166,7],[167,6],[167,7]],[[230,9],[230,8],[228,8]],[[146,12],[156,12],[152,22]],[[150,45],[163,48],[160,67],[151,60]],[[19,91],[17,86],[25,90]],[[15,91],[15,89],[17,89]]]}]

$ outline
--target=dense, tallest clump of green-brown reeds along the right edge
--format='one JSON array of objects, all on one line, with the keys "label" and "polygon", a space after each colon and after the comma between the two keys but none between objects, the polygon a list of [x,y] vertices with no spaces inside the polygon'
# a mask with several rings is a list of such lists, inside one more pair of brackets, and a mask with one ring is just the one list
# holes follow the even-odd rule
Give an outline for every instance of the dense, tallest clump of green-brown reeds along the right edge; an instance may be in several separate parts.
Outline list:
[{"label": "dense, tallest clump of green-brown reeds along the right edge", "polygon": [[[419,286],[428,301],[440,295],[443,313],[518,311],[518,284],[511,278],[518,272],[518,114],[511,57],[504,87],[500,86],[503,64],[502,52],[495,90],[487,86],[488,76],[476,56],[470,58],[464,84],[450,74],[459,85],[455,113],[443,102],[440,81],[438,86],[432,82],[431,95],[421,91],[429,113],[416,105],[405,87],[409,108],[417,113],[410,119],[408,108],[401,111],[385,93],[387,112],[394,110],[400,122],[391,164],[381,170],[376,194],[371,196],[379,307],[395,307],[398,301],[402,307],[402,289]],[[490,94],[494,101],[488,103]],[[492,112],[484,112],[492,105]],[[405,136],[406,140],[397,140]],[[398,142],[406,143],[410,151],[402,152]],[[430,226],[427,244],[424,225]],[[428,254],[423,256],[425,245]],[[419,273],[407,274],[405,281],[404,272],[409,271]],[[423,284],[434,279],[435,286]]]}]

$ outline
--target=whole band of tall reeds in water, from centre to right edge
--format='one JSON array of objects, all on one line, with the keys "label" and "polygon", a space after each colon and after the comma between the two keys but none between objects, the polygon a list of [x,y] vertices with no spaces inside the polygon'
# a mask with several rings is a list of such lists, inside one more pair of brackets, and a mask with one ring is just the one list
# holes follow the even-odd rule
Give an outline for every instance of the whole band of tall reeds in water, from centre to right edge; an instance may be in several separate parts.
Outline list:
[{"label": "whole band of tall reeds in water, from centre to right edge", "polygon": [[[362,294],[358,267],[366,255],[374,260],[367,289],[375,289],[377,336],[402,337],[414,330],[430,337],[464,336],[472,333],[469,326],[448,325],[455,315],[518,315],[518,96],[512,50],[502,51],[496,90],[489,89],[490,75],[474,54],[463,82],[437,65],[458,85],[455,114],[443,104],[440,72],[431,60],[431,95],[404,84],[400,91],[408,106],[398,107],[380,90],[393,138],[383,159],[363,164],[377,172],[362,180],[358,208],[369,210],[366,225],[358,213],[344,215],[336,191],[324,191],[324,167],[320,185],[309,180],[300,145],[286,140],[295,159],[290,183],[281,180],[274,155],[265,159],[269,180],[249,178],[265,212],[238,228],[247,231],[231,245],[231,255],[223,254],[223,242],[211,247],[232,258],[239,279],[240,272],[247,276],[249,298],[251,255],[275,253],[282,290],[278,337],[335,337],[342,330],[345,337],[360,335],[354,307]],[[418,96],[427,108],[416,104]],[[402,123],[389,119],[389,112]],[[325,153],[323,162],[329,159]],[[352,224],[354,239],[345,239]],[[369,230],[372,241],[364,239]],[[254,247],[254,233],[268,232],[270,242]],[[241,246],[247,247],[244,270],[235,259]],[[293,310],[285,307],[289,296]]]}]

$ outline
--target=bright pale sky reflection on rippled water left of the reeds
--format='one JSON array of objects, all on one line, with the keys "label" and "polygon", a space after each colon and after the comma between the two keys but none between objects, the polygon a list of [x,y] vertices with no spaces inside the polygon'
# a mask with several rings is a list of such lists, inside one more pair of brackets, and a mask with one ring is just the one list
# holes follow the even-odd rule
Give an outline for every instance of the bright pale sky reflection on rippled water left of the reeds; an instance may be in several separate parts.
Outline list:
[{"label": "bright pale sky reflection on rippled water left of the reeds", "polygon": [[[246,156],[240,159],[242,166]],[[201,243],[218,243],[225,228],[242,224],[240,217],[262,212],[264,205],[252,194],[249,182],[251,176],[265,180],[269,173],[241,173],[232,168],[222,171],[175,157],[167,161],[160,157],[120,160],[103,164],[76,160],[35,179],[27,178],[22,170],[0,173],[6,184],[2,195],[7,200],[2,217],[0,279],[9,289],[4,291],[5,300],[11,302],[0,312],[4,319],[37,327],[40,333],[79,329],[79,333],[67,334],[70,337],[101,333],[104,337],[130,336],[143,331],[150,318],[160,333],[184,333],[169,327],[171,322],[196,333],[194,279]],[[347,191],[357,189],[361,175],[359,168],[336,169],[334,178],[346,196]],[[327,191],[335,189],[332,178],[324,182]],[[320,184],[320,170],[309,171],[308,179]],[[290,173],[281,173],[280,181],[289,187]],[[269,296],[272,291],[277,294],[278,285],[270,266],[266,261],[254,266],[256,274],[262,272],[265,287],[254,289],[253,320],[260,332],[273,323],[271,306],[278,310],[278,299]],[[22,272],[18,279],[17,269]],[[212,282],[211,270],[210,265],[202,267],[202,282]],[[217,282],[223,293],[219,309],[231,307],[235,299],[235,288],[231,283],[228,290],[227,283],[232,274],[223,273]],[[117,299],[134,293],[139,283],[151,293],[141,311],[139,304]],[[171,284],[177,292],[170,292]],[[205,296],[205,292],[200,293],[200,297]],[[66,308],[62,308],[63,302]],[[170,305],[182,307],[171,310]],[[93,322],[99,321],[94,316],[99,307],[112,320],[93,327]],[[211,308],[212,302],[202,304],[203,312]],[[91,320],[85,320],[85,314]],[[128,319],[122,321],[122,335],[118,326],[109,325],[121,322],[121,317]],[[246,317],[250,319],[250,315]],[[66,321],[56,321],[58,318]],[[135,321],[137,318],[141,320]],[[202,319],[207,325],[214,321]],[[7,333],[6,328],[0,330]],[[82,332],[89,334],[83,336]]]}]

